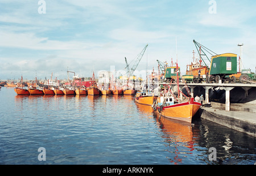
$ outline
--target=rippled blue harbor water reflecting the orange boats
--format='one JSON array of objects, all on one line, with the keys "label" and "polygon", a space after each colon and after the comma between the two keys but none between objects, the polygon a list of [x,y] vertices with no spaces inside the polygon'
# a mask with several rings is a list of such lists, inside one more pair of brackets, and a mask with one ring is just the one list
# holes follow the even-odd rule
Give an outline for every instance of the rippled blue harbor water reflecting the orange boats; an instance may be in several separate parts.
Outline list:
[{"label": "rippled blue harbor water reflecting the orange boats", "polygon": [[253,136],[204,119],[171,121],[133,96],[17,96],[2,87],[0,100],[1,165],[256,162]]}]

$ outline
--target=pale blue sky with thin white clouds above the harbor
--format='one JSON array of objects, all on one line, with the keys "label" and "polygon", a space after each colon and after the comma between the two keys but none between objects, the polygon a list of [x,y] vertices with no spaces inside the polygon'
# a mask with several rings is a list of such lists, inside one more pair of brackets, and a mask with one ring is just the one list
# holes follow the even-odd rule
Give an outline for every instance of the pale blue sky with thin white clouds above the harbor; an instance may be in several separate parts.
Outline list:
[{"label": "pale blue sky with thin white clouds above the harbor", "polygon": [[147,44],[135,74],[158,71],[157,59],[185,74],[193,40],[217,54],[240,55],[243,44],[242,68],[255,72],[255,9],[238,0],[0,0],[0,80],[125,71],[125,57],[133,65]]}]

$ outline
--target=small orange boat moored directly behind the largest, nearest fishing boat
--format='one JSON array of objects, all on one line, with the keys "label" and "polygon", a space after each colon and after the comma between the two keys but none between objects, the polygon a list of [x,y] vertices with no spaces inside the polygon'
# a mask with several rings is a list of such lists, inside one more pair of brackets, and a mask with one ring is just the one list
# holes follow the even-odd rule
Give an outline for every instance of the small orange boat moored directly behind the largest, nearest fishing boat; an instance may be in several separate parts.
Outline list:
[{"label": "small orange boat moored directly behind the largest, nearest fishing boat", "polygon": [[134,101],[138,104],[151,106],[156,101],[158,96],[150,95],[148,92],[137,92]]}]

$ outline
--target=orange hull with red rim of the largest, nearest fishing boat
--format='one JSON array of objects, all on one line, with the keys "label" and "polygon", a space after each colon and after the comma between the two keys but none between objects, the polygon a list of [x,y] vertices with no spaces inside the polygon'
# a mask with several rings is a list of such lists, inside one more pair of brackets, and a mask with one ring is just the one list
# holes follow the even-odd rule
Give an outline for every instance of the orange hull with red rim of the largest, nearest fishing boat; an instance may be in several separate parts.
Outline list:
[{"label": "orange hull with red rim of the largest, nearest fishing boat", "polygon": [[158,110],[158,113],[166,118],[191,123],[192,117],[200,107],[201,104],[199,102],[183,102],[180,104],[165,106],[162,111]]}]

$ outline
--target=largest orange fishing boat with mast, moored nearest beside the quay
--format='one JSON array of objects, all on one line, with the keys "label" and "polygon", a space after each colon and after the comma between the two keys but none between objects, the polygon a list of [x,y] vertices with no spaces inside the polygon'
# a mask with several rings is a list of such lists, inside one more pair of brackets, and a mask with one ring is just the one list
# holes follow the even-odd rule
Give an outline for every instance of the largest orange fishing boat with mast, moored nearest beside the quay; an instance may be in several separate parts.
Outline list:
[{"label": "largest orange fishing boat with mast, moored nearest beside the quay", "polygon": [[[176,68],[177,67],[177,62],[176,62]],[[178,70],[178,69],[176,69]],[[169,98],[175,98],[174,94],[171,91],[171,86],[168,89],[168,92],[163,95],[162,101],[159,102],[161,98],[158,99],[156,104],[154,105],[153,109],[158,110],[158,113],[166,118],[170,119],[176,119],[179,121],[184,121],[184,122],[192,122],[192,117],[196,114],[196,112],[200,109],[201,104],[200,102],[195,102],[193,97],[187,97],[187,101],[181,101],[180,100],[180,93],[182,93],[179,90],[179,75],[178,71],[176,72],[177,74],[177,95],[178,97],[176,98],[176,102],[174,99],[172,101],[168,100]],[[171,95],[170,95],[171,93]],[[167,104],[166,102],[172,102],[171,104]]]}]

